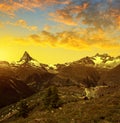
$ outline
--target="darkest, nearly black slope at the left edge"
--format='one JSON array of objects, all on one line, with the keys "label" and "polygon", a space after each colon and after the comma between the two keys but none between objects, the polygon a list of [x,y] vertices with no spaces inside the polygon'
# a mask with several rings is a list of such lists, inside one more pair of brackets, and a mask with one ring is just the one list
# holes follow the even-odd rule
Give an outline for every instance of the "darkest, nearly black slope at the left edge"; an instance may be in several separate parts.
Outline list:
[{"label": "darkest, nearly black slope at the left edge", "polygon": [[0,108],[33,94],[21,80],[0,76]]}]

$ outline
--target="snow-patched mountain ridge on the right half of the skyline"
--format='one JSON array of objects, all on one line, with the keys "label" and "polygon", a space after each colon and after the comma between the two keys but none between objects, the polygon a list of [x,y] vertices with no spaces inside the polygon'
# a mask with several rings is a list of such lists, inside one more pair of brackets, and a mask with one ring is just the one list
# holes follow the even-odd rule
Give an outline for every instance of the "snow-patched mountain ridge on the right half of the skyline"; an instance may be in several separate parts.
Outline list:
[{"label": "snow-patched mountain ridge on the right half of the skyline", "polygon": [[70,64],[82,64],[82,65],[94,66],[98,68],[112,69],[120,64],[120,56],[112,57],[108,54],[97,53],[95,56],[92,57],[86,56],[74,62],[69,62],[65,64],[56,64],[56,66],[60,68],[64,65],[69,66]]}]

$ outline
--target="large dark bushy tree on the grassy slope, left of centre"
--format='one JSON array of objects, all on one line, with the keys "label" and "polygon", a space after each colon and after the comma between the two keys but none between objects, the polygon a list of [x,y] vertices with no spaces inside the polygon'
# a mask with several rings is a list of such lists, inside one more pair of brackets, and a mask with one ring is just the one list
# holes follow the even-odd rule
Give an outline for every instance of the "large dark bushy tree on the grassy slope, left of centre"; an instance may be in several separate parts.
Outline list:
[{"label": "large dark bushy tree on the grassy slope, left of centre", "polygon": [[58,108],[61,106],[61,100],[58,95],[58,90],[55,86],[50,86],[43,97],[44,107],[46,109]]}]

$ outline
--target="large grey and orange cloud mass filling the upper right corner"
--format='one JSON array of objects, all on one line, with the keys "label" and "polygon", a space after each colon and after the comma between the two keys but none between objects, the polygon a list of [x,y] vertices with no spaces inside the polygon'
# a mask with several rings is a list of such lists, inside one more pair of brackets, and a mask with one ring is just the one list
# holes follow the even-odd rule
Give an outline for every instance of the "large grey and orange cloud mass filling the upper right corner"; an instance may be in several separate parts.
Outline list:
[{"label": "large grey and orange cloud mass filling the upper right corner", "polygon": [[49,14],[53,21],[66,25],[86,25],[99,29],[118,28],[119,0],[72,0],[62,9]]}]

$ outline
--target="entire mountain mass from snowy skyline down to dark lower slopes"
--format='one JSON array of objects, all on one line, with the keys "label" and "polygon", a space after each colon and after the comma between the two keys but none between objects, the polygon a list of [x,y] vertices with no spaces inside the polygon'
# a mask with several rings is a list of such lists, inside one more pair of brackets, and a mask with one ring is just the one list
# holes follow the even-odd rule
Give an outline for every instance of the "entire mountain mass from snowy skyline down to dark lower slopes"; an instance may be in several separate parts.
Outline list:
[{"label": "entire mountain mass from snowy skyline down to dark lower slopes", "polygon": [[87,88],[97,85],[120,85],[119,73],[120,56],[96,54],[78,61],[49,66],[38,62],[25,51],[15,63],[0,61],[0,107],[50,85]]}]

